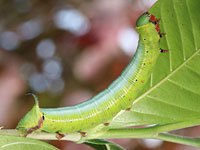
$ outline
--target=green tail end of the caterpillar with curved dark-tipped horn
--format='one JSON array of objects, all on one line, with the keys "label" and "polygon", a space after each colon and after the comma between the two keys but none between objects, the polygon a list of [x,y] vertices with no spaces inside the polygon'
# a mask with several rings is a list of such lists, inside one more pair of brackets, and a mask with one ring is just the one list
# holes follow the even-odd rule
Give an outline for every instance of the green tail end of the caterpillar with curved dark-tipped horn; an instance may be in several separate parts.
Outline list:
[{"label": "green tail end of the caterpillar with curved dark-tipped horn", "polygon": [[40,111],[37,96],[33,93],[28,93],[27,95],[32,95],[35,100],[35,105],[33,108],[20,120],[17,125],[17,129],[23,132],[29,132],[31,129],[39,129],[42,124],[43,114]]}]

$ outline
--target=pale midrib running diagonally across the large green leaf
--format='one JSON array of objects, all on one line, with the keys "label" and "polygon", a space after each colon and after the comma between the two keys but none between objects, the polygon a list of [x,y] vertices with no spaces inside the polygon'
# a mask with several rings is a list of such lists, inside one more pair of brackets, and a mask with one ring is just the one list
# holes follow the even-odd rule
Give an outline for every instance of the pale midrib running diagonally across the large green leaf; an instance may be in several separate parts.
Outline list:
[{"label": "pale midrib running diagonally across the large green leaf", "polygon": [[141,96],[139,96],[137,99],[135,99],[135,101],[133,102],[133,105],[135,103],[137,103],[140,99],[144,98],[145,96],[147,96],[150,92],[152,92],[154,89],[156,89],[157,87],[159,87],[162,83],[164,83],[165,81],[167,81],[172,75],[174,75],[177,71],[179,71],[180,69],[182,69],[182,67],[184,67],[184,65],[186,65],[187,62],[189,62],[193,57],[195,57],[196,55],[198,55],[198,53],[200,52],[200,49],[197,50],[193,55],[191,55],[186,61],[184,61],[179,67],[177,67],[174,71],[170,72],[165,78],[163,78],[162,80],[160,80],[157,84],[155,84],[154,86],[152,86],[151,88],[149,88],[149,90],[147,90],[144,94],[142,94]]}]

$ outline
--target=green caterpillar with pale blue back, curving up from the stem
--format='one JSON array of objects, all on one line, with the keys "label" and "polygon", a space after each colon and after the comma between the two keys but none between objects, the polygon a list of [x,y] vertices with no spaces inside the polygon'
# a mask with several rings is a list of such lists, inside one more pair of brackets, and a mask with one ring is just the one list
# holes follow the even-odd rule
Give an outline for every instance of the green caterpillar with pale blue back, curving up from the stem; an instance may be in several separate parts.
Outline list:
[{"label": "green caterpillar with pale blue back, curving up from the stem", "polygon": [[136,30],[140,35],[137,52],[122,74],[107,89],[86,102],[55,109],[39,108],[37,97],[33,94],[35,105],[21,119],[17,129],[26,134],[40,130],[58,135],[84,133],[99,124],[109,125],[109,121],[120,110],[130,110],[160,54],[159,41],[162,35],[158,22],[148,12],[140,16],[136,23]]}]

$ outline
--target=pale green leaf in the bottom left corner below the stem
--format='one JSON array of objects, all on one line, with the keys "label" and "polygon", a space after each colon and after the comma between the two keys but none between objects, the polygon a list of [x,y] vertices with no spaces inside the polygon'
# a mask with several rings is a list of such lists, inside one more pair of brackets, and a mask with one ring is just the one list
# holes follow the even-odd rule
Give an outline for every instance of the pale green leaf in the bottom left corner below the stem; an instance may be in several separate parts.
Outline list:
[{"label": "pale green leaf in the bottom left corner below the stem", "polygon": [[38,140],[16,137],[16,136],[7,136],[0,135],[0,149],[1,150],[57,150],[56,147],[41,142]]}]

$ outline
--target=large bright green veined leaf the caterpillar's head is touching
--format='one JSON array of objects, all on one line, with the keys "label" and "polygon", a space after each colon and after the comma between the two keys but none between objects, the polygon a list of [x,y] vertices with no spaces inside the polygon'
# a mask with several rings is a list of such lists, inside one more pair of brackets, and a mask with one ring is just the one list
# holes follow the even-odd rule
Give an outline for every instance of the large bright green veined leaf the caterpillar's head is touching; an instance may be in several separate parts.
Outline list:
[{"label": "large bright green veined leaf the caterpillar's head is touching", "polygon": [[150,13],[160,18],[161,53],[149,84],[111,128],[168,124],[200,116],[200,1],[159,0]]}]

